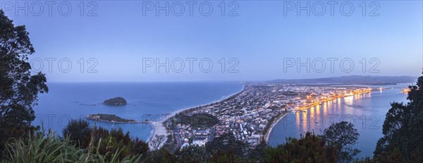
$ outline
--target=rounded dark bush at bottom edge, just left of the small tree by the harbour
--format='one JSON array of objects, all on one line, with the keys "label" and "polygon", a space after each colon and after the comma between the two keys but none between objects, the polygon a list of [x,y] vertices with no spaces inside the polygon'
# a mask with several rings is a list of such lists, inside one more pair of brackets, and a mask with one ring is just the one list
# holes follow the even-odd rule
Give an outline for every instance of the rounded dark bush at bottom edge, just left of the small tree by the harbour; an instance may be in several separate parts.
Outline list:
[{"label": "rounded dark bush at bottom edge, just left of the small tree by the harbour", "polygon": [[337,152],[324,138],[306,133],[300,140],[288,138],[283,145],[268,147],[260,162],[336,162]]}]

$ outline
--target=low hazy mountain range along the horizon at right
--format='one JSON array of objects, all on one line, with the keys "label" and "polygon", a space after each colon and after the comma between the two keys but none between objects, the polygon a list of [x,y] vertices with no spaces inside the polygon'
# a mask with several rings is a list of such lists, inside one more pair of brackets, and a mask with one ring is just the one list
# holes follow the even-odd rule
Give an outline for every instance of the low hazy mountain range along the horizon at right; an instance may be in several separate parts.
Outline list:
[{"label": "low hazy mountain range along the horizon at right", "polygon": [[397,83],[414,83],[416,81],[417,77],[412,76],[341,76],[310,79],[277,79],[268,82],[284,84],[392,85]]}]

